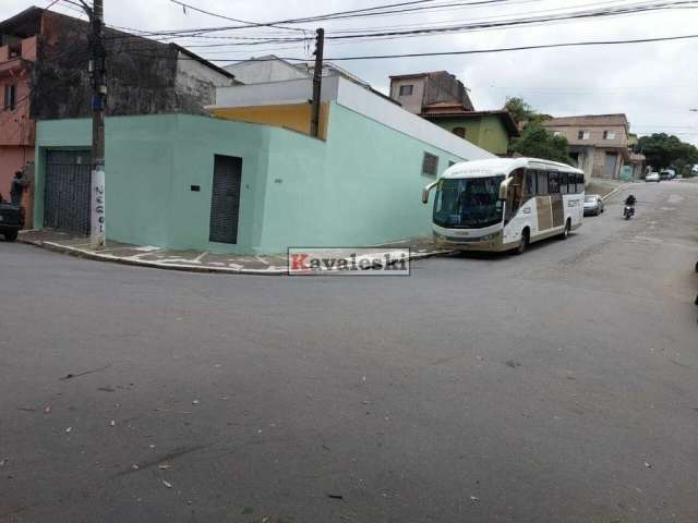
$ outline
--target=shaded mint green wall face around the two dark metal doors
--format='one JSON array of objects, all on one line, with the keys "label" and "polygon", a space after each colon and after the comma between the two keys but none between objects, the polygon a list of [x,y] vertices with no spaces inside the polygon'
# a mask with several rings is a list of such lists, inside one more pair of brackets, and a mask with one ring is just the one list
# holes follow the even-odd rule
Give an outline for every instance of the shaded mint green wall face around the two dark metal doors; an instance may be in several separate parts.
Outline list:
[{"label": "shaded mint green wall face around the two dark metal doors", "polygon": [[[37,125],[35,223],[44,222],[47,148],[89,147],[89,120]],[[272,127],[183,114],[106,122],[107,239],[139,245],[252,252],[258,244]],[[242,158],[237,245],[208,242],[216,154]],[[200,185],[201,192],[192,192]]]}]

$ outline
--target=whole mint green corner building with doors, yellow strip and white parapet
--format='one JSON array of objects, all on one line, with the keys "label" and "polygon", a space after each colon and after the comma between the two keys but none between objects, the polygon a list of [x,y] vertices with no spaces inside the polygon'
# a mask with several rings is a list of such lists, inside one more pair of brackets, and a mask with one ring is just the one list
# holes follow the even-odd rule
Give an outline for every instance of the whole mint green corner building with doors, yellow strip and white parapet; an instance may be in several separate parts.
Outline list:
[{"label": "whole mint green corner building with doors, yellow strip and white parapet", "polygon": [[[453,162],[493,157],[342,77],[323,85],[315,138],[299,125],[311,97],[308,80],[240,85],[218,89],[216,119],[108,118],[107,239],[260,254],[430,234],[423,186]],[[85,175],[89,129],[38,122],[37,223],[86,231],[88,212],[70,221],[52,187],[67,171]],[[84,202],[76,194],[70,208]]]}]

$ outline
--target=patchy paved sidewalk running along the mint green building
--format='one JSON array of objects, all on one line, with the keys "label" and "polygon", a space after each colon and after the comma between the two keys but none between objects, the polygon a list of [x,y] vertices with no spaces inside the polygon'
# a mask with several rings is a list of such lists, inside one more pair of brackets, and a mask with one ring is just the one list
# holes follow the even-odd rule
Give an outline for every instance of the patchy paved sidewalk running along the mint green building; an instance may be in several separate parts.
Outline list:
[{"label": "patchy paved sidewalk running along the mint green building", "polygon": [[[225,272],[233,275],[268,275],[288,273],[286,254],[243,256],[236,254],[215,254],[207,251],[172,251],[148,245],[129,245],[109,241],[106,248],[89,248],[89,239],[58,231],[22,231],[19,241],[22,243],[48,248],[58,253],[70,254],[99,262],[112,262],[124,265],[153,267],[158,269],[185,270],[191,272]],[[372,247],[410,248],[410,260],[448,254],[450,251],[440,250],[431,238],[418,238]]]}]

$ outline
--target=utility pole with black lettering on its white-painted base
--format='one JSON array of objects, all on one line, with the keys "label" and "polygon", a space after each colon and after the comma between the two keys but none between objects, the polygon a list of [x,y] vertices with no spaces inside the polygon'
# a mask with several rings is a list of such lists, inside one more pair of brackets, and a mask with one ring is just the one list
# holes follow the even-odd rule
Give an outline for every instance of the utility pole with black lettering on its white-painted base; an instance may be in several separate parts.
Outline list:
[{"label": "utility pole with black lettering on its white-painted base", "polygon": [[92,181],[91,181],[91,234],[92,248],[103,248],[106,242],[105,221],[105,110],[107,106],[106,50],[104,40],[104,1],[94,0],[91,8],[81,0],[89,16],[92,34],[89,46],[92,60]]}]

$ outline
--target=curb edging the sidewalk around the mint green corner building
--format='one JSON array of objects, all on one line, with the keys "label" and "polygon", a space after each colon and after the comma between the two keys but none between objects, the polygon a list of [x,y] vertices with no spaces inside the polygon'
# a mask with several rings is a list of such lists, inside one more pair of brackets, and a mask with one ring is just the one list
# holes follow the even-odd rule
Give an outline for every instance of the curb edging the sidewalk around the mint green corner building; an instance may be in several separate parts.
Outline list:
[{"label": "curb edging the sidewalk around the mint green corner building", "polygon": [[[197,265],[186,265],[186,264],[181,264],[181,265],[161,264],[158,262],[148,262],[148,260],[142,260],[142,259],[120,258],[109,254],[91,253],[80,248],[70,247],[67,245],[60,245],[53,242],[23,240],[22,235],[20,235],[17,241],[25,245],[33,245],[35,247],[45,248],[53,253],[74,256],[76,258],[91,259],[94,262],[110,262],[113,264],[128,265],[132,267],[147,267],[152,269],[179,270],[181,272],[198,272],[198,273],[224,273],[224,275],[245,275],[245,276],[289,276],[288,268],[285,268],[285,269],[269,268],[269,269],[262,270],[262,269],[232,269],[230,267],[202,267]],[[431,258],[434,256],[445,256],[445,255],[453,254],[454,252],[455,251],[431,251],[426,253],[419,253],[410,256],[409,262]],[[326,273],[330,273],[330,271],[327,271]]]}]

